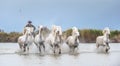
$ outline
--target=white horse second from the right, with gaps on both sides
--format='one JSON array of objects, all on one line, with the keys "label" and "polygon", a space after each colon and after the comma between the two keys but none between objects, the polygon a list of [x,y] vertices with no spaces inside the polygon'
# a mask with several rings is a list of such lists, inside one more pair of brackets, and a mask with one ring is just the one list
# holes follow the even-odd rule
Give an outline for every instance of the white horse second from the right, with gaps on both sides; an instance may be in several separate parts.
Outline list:
[{"label": "white horse second from the right, with gaps on both sides", "polygon": [[75,48],[78,48],[79,45],[78,37],[79,37],[79,31],[76,27],[73,27],[72,35],[69,36],[66,40],[66,44],[69,46],[70,52],[72,53],[75,51]]}]

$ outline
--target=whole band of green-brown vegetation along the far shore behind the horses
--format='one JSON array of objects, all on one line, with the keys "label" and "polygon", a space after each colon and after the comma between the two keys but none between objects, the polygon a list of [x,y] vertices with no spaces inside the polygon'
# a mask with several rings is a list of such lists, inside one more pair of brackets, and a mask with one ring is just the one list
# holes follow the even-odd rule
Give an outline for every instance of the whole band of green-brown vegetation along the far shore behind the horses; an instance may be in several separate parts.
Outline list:
[{"label": "whole band of green-brown vegetation along the far shore behind the horses", "polygon": [[[66,31],[63,31],[63,37],[66,39],[68,36],[71,35],[72,29],[68,29]],[[83,29],[79,30],[80,36],[79,40],[80,42],[84,43],[92,43],[96,41],[96,37],[103,35],[102,30],[96,30],[96,29]],[[17,42],[17,39],[19,36],[21,36],[22,33],[19,32],[0,32],[0,42]],[[120,31],[114,30],[111,31],[110,35],[110,41],[118,43],[120,42]]]}]

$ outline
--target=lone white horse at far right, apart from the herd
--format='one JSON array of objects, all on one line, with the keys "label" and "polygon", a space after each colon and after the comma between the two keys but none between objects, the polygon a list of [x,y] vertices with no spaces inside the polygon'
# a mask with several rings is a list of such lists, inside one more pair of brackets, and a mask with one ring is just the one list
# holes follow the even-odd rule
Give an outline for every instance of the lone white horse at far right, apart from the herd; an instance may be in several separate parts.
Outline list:
[{"label": "lone white horse at far right, apart from the herd", "polygon": [[105,47],[105,51],[108,52],[108,50],[110,49],[109,47],[109,36],[110,36],[110,29],[108,27],[106,27],[103,30],[103,36],[98,36],[96,38],[96,47],[99,48],[99,46],[104,46]]}]

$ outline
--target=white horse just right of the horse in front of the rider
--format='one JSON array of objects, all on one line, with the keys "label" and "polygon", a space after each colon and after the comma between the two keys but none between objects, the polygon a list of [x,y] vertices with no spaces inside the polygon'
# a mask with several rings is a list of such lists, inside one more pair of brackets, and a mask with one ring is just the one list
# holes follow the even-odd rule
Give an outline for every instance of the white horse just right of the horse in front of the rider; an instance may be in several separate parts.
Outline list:
[{"label": "white horse just right of the horse in front of the rider", "polygon": [[40,25],[38,27],[38,30],[39,30],[39,33],[35,36],[35,42],[34,43],[39,48],[39,51],[41,53],[42,48],[44,49],[44,52],[45,52],[45,40],[46,40],[46,37],[47,37],[47,33],[49,33],[49,30],[48,30],[48,28],[46,28],[42,25]]}]

